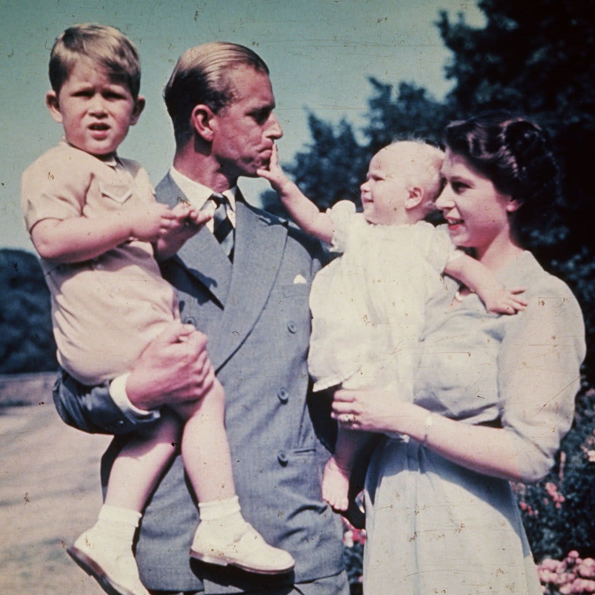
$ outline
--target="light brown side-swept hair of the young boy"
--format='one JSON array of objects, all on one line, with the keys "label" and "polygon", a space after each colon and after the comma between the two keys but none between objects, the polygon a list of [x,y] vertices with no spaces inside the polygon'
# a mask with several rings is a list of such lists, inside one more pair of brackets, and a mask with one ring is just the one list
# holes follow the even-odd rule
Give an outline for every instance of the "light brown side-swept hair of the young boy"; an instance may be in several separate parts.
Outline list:
[{"label": "light brown side-swept hair of the young boy", "polygon": [[58,35],[49,58],[49,82],[60,93],[81,60],[105,68],[110,77],[126,83],[134,99],[140,91],[140,61],[134,44],[115,27],[83,23]]}]

